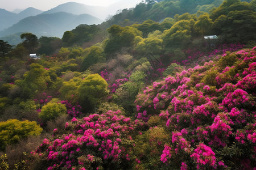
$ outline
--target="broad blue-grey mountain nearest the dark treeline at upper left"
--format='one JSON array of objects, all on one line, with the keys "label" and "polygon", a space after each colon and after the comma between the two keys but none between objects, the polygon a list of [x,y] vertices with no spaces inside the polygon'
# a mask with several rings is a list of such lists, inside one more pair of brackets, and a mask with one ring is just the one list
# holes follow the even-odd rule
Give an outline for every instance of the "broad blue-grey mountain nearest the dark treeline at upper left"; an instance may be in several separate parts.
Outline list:
[{"label": "broad blue-grey mountain nearest the dark treeline at upper left", "polygon": [[0,31],[0,37],[14,34],[16,32],[31,32],[36,36],[62,37],[63,33],[71,30],[80,24],[100,24],[101,19],[92,15],[73,15],[67,12],[54,14],[40,14],[20,20],[13,26]]}]

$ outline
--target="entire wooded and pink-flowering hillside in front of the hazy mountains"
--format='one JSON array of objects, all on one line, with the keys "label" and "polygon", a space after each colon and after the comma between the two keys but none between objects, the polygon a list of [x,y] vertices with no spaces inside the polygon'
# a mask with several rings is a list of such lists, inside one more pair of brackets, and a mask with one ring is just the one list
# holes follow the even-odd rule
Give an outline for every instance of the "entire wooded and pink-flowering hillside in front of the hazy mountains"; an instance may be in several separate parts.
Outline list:
[{"label": "entire wooded and pink-flowering hillside in front of the hazy mountains", "polygon": [[0,169],[254,169],[255,0],[221,2],[0,41]]}]

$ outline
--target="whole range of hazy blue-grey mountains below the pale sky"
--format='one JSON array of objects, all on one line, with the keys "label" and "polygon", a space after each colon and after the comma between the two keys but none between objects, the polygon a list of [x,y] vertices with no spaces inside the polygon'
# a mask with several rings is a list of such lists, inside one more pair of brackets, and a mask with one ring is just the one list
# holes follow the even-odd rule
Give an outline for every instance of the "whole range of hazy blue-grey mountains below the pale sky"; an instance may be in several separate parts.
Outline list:
[{"label": "whole range of hazy blue-grey mountains below the pale sky", "polygon": [[79,24],[100,24],[118,10],[135,7],[137,2],[138,0],[121,0],[108,7],[68,2],[48,11],[30,7],[18,14],[0,8],[0,39],[10,41],[10,35],[18,32],[31,32],[38,37],[62,37],[65,31],[76,28]]}]

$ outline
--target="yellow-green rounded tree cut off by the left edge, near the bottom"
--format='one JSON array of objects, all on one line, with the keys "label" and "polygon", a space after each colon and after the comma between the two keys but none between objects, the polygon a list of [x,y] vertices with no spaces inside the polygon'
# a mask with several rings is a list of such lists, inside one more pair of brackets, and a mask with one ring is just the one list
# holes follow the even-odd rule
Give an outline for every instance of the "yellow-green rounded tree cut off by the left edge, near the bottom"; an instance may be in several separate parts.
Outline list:
[{"label": "yellow-green rounded tree cut off by the left edge, near the bottom", "polygon": [[19,121],[15,119],[0,122],[0,149],[5,150],[6,145],[15,144],[19,139],[31,135],[39,135],[43,131],[34,121]]}]

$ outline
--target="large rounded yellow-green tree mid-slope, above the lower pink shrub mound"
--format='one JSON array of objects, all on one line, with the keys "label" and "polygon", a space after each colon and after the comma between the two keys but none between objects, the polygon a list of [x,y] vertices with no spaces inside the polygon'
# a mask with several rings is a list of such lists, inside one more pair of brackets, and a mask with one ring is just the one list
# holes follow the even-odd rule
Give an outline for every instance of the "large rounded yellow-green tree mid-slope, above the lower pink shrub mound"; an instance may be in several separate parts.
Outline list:
[{"label": "large rounded yellow-green tree mid-slope, above the lower pink shrub mound", "polygon": [[[102,98],[108,95],[108,83],[104,78],[98,74],[90,74],[87,76],[84,81],[81,83],[79,91],[79,99],[81,105],[88,105],[95,112],[96,104]],[[86,108],[89,109],[89,108]]]}]

